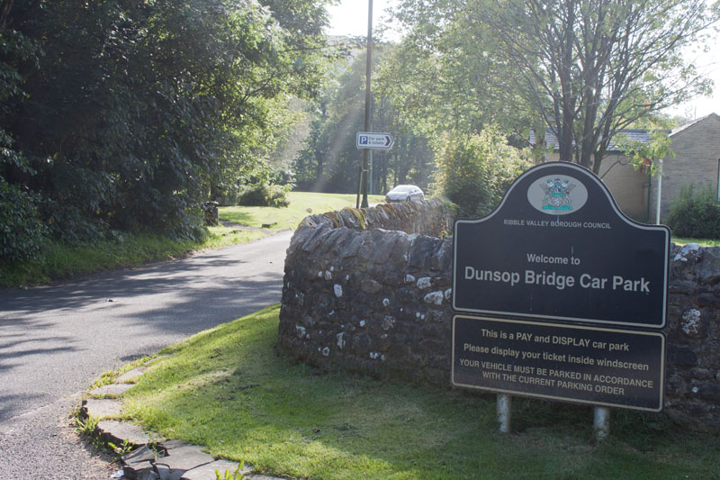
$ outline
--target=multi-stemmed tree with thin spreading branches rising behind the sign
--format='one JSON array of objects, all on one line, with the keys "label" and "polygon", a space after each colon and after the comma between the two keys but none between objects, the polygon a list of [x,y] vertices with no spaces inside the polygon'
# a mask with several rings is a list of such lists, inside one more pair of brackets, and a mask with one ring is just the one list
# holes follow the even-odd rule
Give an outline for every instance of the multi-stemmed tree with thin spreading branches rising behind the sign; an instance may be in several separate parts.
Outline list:
[{"label": "multi-stemmed tree with thin spreading branches rising behind the sign", "polygon": [[494,32],[515,66],[501,81],[554,131],[561,160],[595,173],[618,132],[709,91],[682,59],[717,22],[705,1],[508,0],[467,12]]}]

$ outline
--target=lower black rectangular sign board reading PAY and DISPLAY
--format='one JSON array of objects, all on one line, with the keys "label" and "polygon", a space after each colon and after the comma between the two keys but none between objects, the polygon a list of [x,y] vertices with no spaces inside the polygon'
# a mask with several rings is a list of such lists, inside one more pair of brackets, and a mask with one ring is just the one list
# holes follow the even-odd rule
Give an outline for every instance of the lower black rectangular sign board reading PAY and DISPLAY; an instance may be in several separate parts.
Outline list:
[{"label": "lower black rectangular sign board reading PAY and DISPLAY", "polygon": [[660,412],[664,358],[659,331],[453,319],[456,386]]}]

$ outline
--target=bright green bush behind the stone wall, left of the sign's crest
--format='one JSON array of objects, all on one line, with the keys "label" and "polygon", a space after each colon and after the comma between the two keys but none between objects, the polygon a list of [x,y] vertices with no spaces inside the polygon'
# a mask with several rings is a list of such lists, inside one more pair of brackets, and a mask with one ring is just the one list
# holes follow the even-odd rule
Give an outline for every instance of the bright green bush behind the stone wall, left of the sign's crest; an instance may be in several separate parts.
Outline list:
[{"label": "bright green bush behind the stone wall, left of the sign's crest", "polygon": [[463,216],[482,216],[500,203],[510,183],[530,167],[527,155],[497,127],[479,135],[448,133],[437,151],[437,188]]}]

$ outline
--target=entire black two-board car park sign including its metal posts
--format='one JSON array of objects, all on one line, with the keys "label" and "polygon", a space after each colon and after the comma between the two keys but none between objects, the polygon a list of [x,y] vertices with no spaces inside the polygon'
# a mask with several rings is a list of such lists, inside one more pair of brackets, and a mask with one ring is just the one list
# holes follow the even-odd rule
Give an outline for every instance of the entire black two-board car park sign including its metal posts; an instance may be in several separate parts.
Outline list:
[{"label": "entire black two-board car park sign including its metal posts", "polygon": [[590,170],[551,162],[491,214],[456,221],[454,249],[453,385],[498,393],[499,420],[510,394],[594,405],[598,439],[609,407],[662,410],[667,227],[626,217]]}]

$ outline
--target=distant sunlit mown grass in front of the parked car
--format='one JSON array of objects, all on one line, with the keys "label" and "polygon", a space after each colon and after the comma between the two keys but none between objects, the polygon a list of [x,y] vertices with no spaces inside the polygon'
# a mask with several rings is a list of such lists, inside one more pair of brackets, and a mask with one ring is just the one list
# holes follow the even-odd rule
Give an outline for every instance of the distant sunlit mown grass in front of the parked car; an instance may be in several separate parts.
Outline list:
[{"label": "distant sunlit mown grass in front of the parked car", "polygon": [[[290,192],[287,207],[226,206],[220,207],[220,220],[260,227],[276,222],[273,229],[294,229],[308,215],[342,210],[356,205],[356,195],[317,194],[312,192]],[[383,195],[368,195],[368,202],[383,201]],[[310,212],[308,211],[310,210]]]}]

